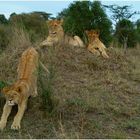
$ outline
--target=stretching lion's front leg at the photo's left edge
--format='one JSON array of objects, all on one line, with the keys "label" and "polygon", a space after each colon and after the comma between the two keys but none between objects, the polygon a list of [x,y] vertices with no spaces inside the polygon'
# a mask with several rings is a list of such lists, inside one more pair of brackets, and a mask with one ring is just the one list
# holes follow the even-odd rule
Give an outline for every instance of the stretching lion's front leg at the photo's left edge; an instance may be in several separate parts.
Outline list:
[{"label": "stretching lion's front leg at the photo's left edge", "polygon": [[0,120],[0,130],[3,130],[6,127],[7,119],[9,114],[11,113],[11,109],[12,106],[9,106],[7,103],[5,103],[1,120]]}]

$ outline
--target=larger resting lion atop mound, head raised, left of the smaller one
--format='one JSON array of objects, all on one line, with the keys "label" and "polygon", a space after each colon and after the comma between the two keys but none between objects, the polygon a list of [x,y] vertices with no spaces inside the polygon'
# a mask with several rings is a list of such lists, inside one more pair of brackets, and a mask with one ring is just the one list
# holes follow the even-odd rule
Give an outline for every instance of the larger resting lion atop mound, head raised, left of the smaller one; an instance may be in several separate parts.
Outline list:
[{"label": "larger resting lion atop mound, head raised, left of the smaller one", "polygon": [[84,47],[83,41],[79,36],[69,36],[64,33],[62,24],[63,20],[49,20],[48,22],[49,35],[44,40],[40,47],[52,47],[52,46],[79,46]]}]

